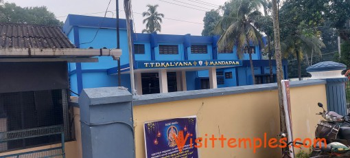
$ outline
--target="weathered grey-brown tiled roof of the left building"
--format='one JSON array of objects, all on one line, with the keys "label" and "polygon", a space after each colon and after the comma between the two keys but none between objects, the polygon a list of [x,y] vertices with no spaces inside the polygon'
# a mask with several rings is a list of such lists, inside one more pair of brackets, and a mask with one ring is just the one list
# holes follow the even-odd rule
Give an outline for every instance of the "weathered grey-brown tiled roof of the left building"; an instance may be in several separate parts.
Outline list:
[{"label": "weathered grey-brown tiled roof of the left building", "polygon": [[1,48],[75,48],[58,26],[0,23]]}]

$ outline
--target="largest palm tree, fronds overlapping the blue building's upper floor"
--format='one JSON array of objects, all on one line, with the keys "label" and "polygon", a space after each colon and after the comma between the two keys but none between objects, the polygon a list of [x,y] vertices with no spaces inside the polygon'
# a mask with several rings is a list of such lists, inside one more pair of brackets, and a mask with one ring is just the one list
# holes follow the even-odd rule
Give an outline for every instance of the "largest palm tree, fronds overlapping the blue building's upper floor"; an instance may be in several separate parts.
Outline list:
[{"label": "largest palm tree, fronds overlapping the blue building's upper floor", "polygon": [[[219,51],[225,48],[237,46],[237,56],[243,57],[243,47],[261,45],[262,36],[255,28],[254,24],[260,16],[259,8],[262,0],[231,0],[231,12],[224,15],[215,30],[222,34],[218,41]],[[255,84],[254,67],[251,49],[248,49],[250,60],[250,71],[252,73],[253,84]]]}]

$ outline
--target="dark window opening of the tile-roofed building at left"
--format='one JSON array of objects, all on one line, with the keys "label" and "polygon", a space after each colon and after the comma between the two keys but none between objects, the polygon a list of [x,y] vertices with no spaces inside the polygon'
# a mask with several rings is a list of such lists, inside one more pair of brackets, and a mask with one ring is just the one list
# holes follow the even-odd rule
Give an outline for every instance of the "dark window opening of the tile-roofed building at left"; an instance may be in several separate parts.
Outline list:
[{"label": "dark window opening of the tile-roofed building at left", "polygon": [[[67,99],[65,89],[0,93],[0,132],[23,130],[23,135],[32,135],[33,133],[25,129],[40,129],[69,122],[68,100],[65,99]],[[70,130],[67,128],[65,128],[65,139],[71,139]],[[56,144],[60,140],[59,134],[10,140],[0,143],[0,153]]]}]

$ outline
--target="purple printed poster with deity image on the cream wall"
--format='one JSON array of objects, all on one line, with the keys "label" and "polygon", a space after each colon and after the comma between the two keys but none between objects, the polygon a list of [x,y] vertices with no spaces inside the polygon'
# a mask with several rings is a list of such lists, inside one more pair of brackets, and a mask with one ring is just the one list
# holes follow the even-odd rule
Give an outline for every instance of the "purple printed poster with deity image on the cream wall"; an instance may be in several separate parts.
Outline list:
[{"label": "purple printed poster with deity image on the cream wall", "polygon": [[145,122],[146,157],[198,158],[198,148],[194,148],[196,124],[196,116]]}]

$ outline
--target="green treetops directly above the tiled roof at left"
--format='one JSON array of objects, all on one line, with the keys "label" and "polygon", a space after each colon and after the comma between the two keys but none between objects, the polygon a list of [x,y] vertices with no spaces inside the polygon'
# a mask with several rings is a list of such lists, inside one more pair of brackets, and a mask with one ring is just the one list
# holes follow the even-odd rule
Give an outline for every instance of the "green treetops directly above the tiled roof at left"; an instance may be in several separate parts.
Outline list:
[{"label": "green treetops directly above the tiled roof at left", "polygon": [[15,3],[5,3],[0,5],[0,22],[63,25],[62,21],[56,19],[55,14],[49,12],[45,6],[21,8]]}]

